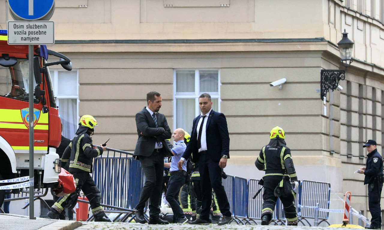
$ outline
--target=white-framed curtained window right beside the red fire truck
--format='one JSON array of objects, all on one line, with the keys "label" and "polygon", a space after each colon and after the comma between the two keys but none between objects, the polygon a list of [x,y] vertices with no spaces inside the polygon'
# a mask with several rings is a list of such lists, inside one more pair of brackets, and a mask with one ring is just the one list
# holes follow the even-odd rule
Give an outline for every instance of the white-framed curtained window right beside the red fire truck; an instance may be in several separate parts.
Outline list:
[{"label": "white-framed curtained window right beside the red fire truck", "polygon": [[63,136],[72,139],[78,128],[78,71],[50,70]]}]

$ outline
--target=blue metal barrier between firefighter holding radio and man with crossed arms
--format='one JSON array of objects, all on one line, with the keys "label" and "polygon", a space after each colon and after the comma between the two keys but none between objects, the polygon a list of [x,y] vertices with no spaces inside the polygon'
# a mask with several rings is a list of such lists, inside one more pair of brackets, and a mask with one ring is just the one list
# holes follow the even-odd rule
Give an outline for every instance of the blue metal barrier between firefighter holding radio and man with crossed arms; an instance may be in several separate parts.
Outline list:
[{"label": "blue metal barrier between firefighter holding radio and man with crossed arms", "polygon": [[93,179],[101,191],[103,204],[134,209],[138,203],[144,172],[132,154],[108,149],[107,154],[94,159]]}]

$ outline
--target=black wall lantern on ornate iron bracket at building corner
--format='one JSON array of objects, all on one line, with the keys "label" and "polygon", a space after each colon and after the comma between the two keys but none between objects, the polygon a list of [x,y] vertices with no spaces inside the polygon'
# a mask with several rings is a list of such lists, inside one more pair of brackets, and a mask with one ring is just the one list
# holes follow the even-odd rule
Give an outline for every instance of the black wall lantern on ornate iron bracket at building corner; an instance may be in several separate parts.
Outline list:
[{"label": "black wall lantern on ornate iron bracket at building corner", "polygon": [[332,91],[335,90],[340,80],[345,79],[345,71],[347,70],[347,67],[351,65],[352,63],[352,49],[353,49],[354,42],[349,40],[348,33],[344,30],[343,38],[341,41],[339,41],[339,51],[340,51],[340,62],[343,63],[343,66],[345,66],[345,70],[334,70],[334,69],[322,69],[321,70],[321,94],[320,99],[324,100],[324,97],[326,97],[327,92],[331,89]]}]

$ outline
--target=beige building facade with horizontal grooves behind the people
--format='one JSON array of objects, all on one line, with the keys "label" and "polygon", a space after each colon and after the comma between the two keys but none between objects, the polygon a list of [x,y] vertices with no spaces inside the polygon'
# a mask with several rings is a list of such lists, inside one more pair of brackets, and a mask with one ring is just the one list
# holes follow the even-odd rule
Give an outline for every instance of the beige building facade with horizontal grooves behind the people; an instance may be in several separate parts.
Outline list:
[{"label": "beige building facade with horizontal grooves behind the people", "polygon": [[[190,131],[198,95],[210,92],[227,117],[228,174],[261,178],[254,162],[278,125],[299,179],[351,191],[354,209],[369,216],[364,176],[353,172],[365,164],[367,139],[382,153],[384,0],[55,2],[56,44],[48,48],[68,56],[74,74],[51,68],[51,75],[63,105],[76,104],[72,125],[79,115],[97,118],[94,143],[111,138],[109,147],[133,151],[135,114],[152,90],[162,94],[170,128]],[[0,6],[5,29],[12,18],[7,1]],[[320,70],[344,69],[336,45],[344,29],[354,59],[324,109]],[[281,78],[282,89],[270,87]],[[65,79],[75,84],[60,84]],[[342,209],[334,200],[331,207]]]}]

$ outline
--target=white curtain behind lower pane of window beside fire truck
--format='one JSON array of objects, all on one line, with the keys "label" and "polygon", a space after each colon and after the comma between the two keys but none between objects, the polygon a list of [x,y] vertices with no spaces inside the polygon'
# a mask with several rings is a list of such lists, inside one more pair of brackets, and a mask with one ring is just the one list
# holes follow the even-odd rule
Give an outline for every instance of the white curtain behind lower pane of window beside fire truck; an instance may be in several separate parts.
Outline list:
[{"label": "white curtain behind lower pane of window beside fire truck", "polygon": [[63,136],[72,139],[78,128],[77,99],[58,99],[58,102]]}]

